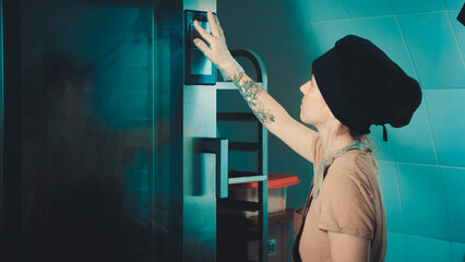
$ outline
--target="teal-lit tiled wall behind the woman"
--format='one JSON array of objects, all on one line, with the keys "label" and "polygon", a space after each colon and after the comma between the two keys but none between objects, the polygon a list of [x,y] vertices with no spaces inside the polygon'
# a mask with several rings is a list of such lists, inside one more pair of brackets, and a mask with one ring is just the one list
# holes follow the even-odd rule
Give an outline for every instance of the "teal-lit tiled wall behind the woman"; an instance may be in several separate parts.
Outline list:
[{"label": "teal-lit tiled wall behind the woman", "polygon": [[[348,34],[370,39],[422,88],[407,127],[372,126],[388,221],[386,261],[465,261],[463,0],[218,0],[229,49],[257,51],[269,93],[296,119],[311,62]],[[246,72],[251,72],[245,64]],[[287,205],[303,204],[312,164],[269,136],[270,172],[294,174]],[[246,159],[247,160],[247,159]]]}]

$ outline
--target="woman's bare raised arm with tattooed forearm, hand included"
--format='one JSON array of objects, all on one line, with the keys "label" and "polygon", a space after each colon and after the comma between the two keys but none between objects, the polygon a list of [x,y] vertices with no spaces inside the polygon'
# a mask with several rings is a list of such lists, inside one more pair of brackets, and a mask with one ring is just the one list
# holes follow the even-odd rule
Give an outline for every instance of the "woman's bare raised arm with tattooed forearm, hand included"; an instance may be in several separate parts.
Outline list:
[{"label": "woman's bare raised arm with tattooed forearm, hand included", "polygon": [[210,47],[199,38],[194,39],[194,44],[218,67],[225,80],[234,81],[250,109],[263,126],[296,153],[313,163],[314,150],[311,146],[318,133],[291,118],[269,93],[243,72],[242,67],[233,58],[226,46],[218,19],[211,11],[207,12],[207,19],[212,34],[200,26],[198,21],[194,21],[194,26],[199,34],[208,41]]}]

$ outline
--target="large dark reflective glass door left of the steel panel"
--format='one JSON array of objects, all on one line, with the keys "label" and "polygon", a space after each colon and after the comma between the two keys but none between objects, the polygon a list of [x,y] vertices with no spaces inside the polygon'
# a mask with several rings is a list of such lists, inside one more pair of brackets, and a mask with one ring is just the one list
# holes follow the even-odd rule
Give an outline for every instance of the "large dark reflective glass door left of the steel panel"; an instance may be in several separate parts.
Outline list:
[{"label": "large dark reflective glass door left of the steel panel", "polygon": [[2,7],[3,258],[180,261],[181,2]]}]

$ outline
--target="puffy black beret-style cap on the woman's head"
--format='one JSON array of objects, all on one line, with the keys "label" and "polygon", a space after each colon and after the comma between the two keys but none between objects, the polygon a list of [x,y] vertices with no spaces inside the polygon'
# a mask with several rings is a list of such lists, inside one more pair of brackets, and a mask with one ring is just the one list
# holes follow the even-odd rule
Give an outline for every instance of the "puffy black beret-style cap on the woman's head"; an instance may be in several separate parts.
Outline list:
[{"label": "puffy black beret-style cap on the woman's head", "polygon": [[370,40],[347,35],[312,62],[320,93],[334,117],[361,134],[371,124],[401,128],[421,104],[421,88]]}]

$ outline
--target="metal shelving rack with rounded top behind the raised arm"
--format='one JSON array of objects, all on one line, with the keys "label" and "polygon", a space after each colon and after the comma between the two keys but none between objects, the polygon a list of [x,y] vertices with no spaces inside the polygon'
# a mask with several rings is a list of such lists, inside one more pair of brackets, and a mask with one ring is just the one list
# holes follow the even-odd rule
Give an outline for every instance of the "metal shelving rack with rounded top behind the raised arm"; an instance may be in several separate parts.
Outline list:
[{"label": "metal shelving rack with rounded top behind the raised arm", "polygon": [[[257,71],[257,84],[267,92],[267,74],[262,59],[253,51],[248,49],[230,50],[233,57],[248,58]],[[217,92],[225,90],[237,90],[233,82],[217,82]],[[254,225],[253,219],[249,219],[247,225],[254,227],[257,230],[247,231],[242,235],[242,239],[258,240],[258,257],[260,262],[267,261],[269,254],[269,212],[267,212],[267,130],[259,121],[253,112],[217,112],[217,121],[238,121],[238,122],[257,122],[258,141],[257,142],[229,142],[228,151],[257,152],[258,170],[253,171],[228,171],[228,184],[258,182],[259,183],[259,202],[239,201],[233,199],[218,199],[218,207],[235,209],[240,211],[258,211],[258,224]]]}]

